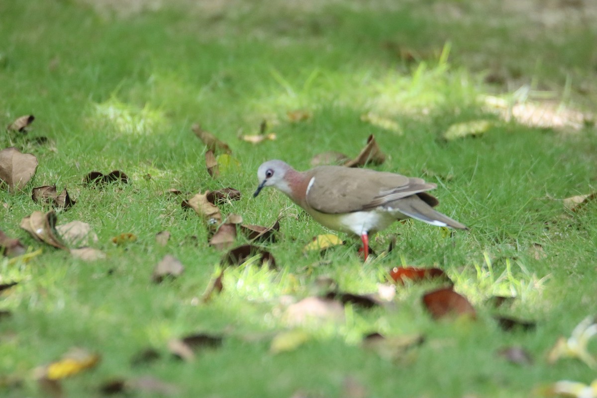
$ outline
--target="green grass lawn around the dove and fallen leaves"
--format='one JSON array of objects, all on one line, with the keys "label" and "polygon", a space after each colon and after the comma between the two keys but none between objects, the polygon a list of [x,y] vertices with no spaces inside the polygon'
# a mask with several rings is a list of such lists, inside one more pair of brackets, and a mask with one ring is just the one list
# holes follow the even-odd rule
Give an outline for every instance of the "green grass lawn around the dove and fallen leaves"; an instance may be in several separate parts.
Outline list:
[{"label": "green grass lawn around the dove and fallen leaves", "polygon": [[[0,320],[0,395],[44,396],[33,369],[73,346],[101,354],[93,371],[63,382],[73,397],[100,396],[105,381],[143,375],[176,385],[181,397],[290,397],[298,390],[339,397],[347,377],[371,397],[526,397],[558,380],[592,381],[594,371],[584,363],[549,365],[546,354],[597,310],[595,203],[576,214],[562,204],[594,190],[595,127],[560,131],[500,122],[479,95],[510,98],[528,84],[550,90],[563,107],[594,104],[597,29],[580,24],[537,34],[524,19],[500,13],[495,18],[503,23],[486,24],[489,5],[454,2],[468,19],[451,20],[424,3],[347,2],[292,12],[277,3],[239,2],[221,12],[187,4],[122,18],[75,1],[0,4],[0,124],[36,116],[26,137],[2,132],[0,146],[14,144],[39,160],[23,193],[0,192],[6,204],[0,230],[43,249],[29,263],[0,259],[0,282],[20,281],[0,297],[0,309],[12,312]],[[519,45],[512,45],[515,38]],[[399,49],[416,59],[401,57]],[[506,71],[507,84],[484,83],[494,69]],[[312,117],[289,122],[287,112],[296,109]],[[392,119],[401,132],[362,122],[367,112]],[[494,127],[476,138],[441,140],[450,125],[477,119],[493,120]],[[253,134],[263,120],[277,140],[258,146],[238,140],[239,131]],[[230,144],[238,168],[209,177],[205,147],[191,131],[196,122]],[[306,169],[317,153],[356,155],[370,134],[388,156],[377,169],[437,183],[439,210],[470,231],[447,238],[423,223],[397,223],[372,239],[381,252],[390,235],[398,236],[388,257],[363,264],[356,240],[348,239],[320,258],[303,255],[303,246],[326,233],[323,227],[288,207],[281,193],[252,198],[261,162],[279,158]],[[27,141],[38,136],[50,143]],[[105,190],[82,184],[92,170],[113,169],[131,183]],[[42,209],[30,190],[47,184],[67,187],[78,201],[59,213],[59,224],[90,223],[106,260],[73,260],[19,228],[23,217]],[[224,252],[207,245],[204,221],[184,212],[181,198],[162,192],[174,187],[192,195],[227,186],[243,197],[222,205],[223,214],[266,226],[281,211],[287,215],[281,239],[264,246],[279,270],[229,269],[223,292],[202,304]],[[166,247],[155,243],[162,230],[172,234]],[[110,241],[128,232],[136,242]],[[545,258],[534,257],[534,243]],[[165,254],[186,269],[156,285],[153,267]],[[375,292],[387,271],[403,263],[445,270],[478,320],[432,320],[421,295],[436,284],[424,283],[399,287],[389,308],[348,306],[345,322],[310,326],[304,345],[269,352],[273,335],[288,328],[281,316],[288,295],[313,294],[320,276],[333,278],[341,291]],[[497,311],[486,301],[496,294],[517,298]],[[491,319],[495,313],[536,320],[537,328],[501,331]],[[373,331],[423,334],[426,341],[393,362],[361,347]],[[224,334],[224,343],[192,363],[172,359],[168,340],[195,332]],[[510,345],[527,348],[534,364],[516,366],[496,355]],[[131,366],[131,357],[147,347],[161,358]],[[21,384],[3,386],[7,378]]]}]

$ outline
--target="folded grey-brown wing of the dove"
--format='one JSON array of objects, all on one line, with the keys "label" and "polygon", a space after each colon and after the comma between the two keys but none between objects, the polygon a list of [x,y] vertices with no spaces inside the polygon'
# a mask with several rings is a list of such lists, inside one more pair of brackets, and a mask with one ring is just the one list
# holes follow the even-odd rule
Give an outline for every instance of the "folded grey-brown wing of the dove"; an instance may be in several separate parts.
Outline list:
[{"label": "folded grey-brown wing of the dove", "polygon": [[341,166],[315,168],[312,178],[306,203],[316,211],[328,214],[376,208],[436,187],[420,178]]}]

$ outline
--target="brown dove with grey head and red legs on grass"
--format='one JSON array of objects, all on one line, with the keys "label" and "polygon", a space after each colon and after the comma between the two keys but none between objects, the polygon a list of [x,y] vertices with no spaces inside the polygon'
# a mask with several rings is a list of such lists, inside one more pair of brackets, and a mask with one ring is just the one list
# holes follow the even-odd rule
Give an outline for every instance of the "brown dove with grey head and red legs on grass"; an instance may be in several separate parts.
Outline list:
[{"label": "brown dove with grey head and red legs on grass", "polygon": [[322,226],[360,237],[365,261],[369,236],[398,220],[414,218],[433,226],[468,229],[433,209],[439,201],[427,191],[437,185],[422,178],[344,166],[297,171],[277,159],[262,163],[257,178],[254,198],[264,187],[280,190]]}]

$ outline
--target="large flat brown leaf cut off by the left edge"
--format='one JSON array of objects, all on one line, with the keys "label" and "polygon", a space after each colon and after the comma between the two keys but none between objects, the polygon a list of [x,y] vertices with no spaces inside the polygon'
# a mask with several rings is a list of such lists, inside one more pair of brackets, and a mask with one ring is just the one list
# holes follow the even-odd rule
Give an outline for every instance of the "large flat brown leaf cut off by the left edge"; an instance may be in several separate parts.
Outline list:
[{"label": "large flat brown leaf cut off by the left edge", "polygon": [[38,160],[31,153],[21,153],[15,147],[0,150],[0,183],[8,184],[10,192],[22,190],[35,174]]}]

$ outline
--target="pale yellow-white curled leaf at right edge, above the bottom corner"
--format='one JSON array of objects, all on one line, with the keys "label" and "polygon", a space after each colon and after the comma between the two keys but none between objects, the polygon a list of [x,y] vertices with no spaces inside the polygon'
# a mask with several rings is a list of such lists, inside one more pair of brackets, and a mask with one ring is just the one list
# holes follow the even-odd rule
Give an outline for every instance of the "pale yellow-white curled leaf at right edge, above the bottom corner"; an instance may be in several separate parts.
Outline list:
[{"label": "pale yellow-white curled leaf at right edge, above the bottom corner", "polygon": [[587,350],[589,340],[597,334],[595,318],[587,316],[572,331],[570,338],[560,337],[547,354],[547,362],[555,363],[561,358],[576,358],[591,369],[597,367],[595,358]]}]

